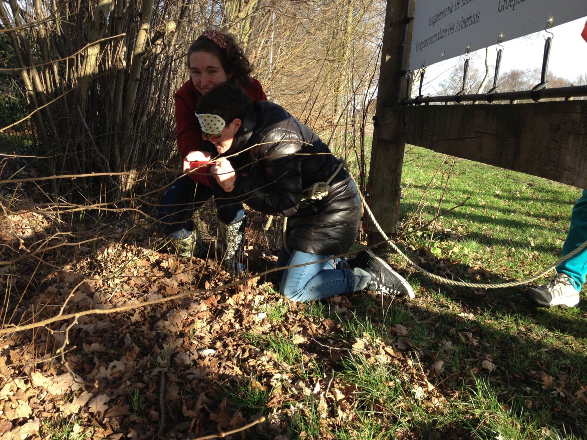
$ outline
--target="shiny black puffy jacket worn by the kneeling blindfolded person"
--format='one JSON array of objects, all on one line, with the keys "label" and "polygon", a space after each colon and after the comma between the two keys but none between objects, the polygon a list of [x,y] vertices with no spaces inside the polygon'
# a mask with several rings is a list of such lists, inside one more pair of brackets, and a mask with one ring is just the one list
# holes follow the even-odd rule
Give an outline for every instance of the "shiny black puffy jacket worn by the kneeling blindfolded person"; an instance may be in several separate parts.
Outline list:
[{"label": "shiny black puffy jacket worn by the kneeling blindfolded person", "polygon": [[328,195],[303,200],[307,189],[327,181],[340,160],[312,130],[281,106],[253,104],[224,155],[237,171],[231,196],[267,215],[288,218],[288,248],[318,255],[347,252],[359,230],[360,198],[341,169]]}]

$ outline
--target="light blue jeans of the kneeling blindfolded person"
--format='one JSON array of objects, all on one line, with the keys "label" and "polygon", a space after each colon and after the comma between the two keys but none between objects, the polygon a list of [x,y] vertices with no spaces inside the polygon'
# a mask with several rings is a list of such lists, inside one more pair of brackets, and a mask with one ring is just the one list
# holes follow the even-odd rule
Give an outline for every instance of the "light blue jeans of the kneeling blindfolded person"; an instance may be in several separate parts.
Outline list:
[{"label": "light blue jeans of the kneeling blindfolded person", "polygon": [[292,251],[289,254],[281,248],[277,266],[295,266],[328,259],[321,263],[309,264],[283,271],[279,292],[292,301],[309,302],[330,296],[344,295],[356,290],[355,276],[348,266],[333,259],[333,255]]}]

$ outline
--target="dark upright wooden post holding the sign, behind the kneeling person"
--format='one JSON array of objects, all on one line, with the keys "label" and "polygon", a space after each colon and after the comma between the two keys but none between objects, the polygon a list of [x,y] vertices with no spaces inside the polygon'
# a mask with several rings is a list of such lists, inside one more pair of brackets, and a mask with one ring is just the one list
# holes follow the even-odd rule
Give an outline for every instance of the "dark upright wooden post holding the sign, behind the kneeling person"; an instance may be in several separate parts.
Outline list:
[{"label": "dark upright wooden post holding the sign, behind the kneeling person", "polygon": [[[412,1],[414,3],[414,1]],[[387,0],[383,30],[382,60],[377,89],[377,106],[367,192],[370,208],[387,235],[396,233],[399,214],[400,184],[405,144],[400,140],[379,136],[377,117],[382,109],[396,107],[399,103],[404,75],[402,69],[409,65],[411,33],[404,48],[404,29],[407,12],[413,11],[410,0]],[[408,9],[410,8],[410,9]],[[406,57],[405,61],[402,61]],[[405,86],[404,86],[405,87]],[[404,88],[405,90],[405,88]],[[367,222],[367,243],[375,245],[383,241],[373,222]]]}]

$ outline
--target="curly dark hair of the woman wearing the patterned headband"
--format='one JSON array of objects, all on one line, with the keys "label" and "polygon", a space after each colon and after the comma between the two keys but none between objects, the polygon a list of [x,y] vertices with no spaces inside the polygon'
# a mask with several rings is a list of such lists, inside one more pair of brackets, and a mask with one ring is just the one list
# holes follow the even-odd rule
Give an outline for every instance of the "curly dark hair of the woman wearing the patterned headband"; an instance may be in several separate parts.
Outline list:
[{"label": "curly dark hair of the woman wearing the patterned headband", "polygon": [[237,43],[235,36],[230,33],[215,31],[215,33],[220,34],[222,42],[226,43],[226,48],[221,48],[217,42],[204,36],[205,33],[207,32],[204,32],[203,35],[191,43],[187,51],[188,67],[190,67],[190,55],[192,53],[208,52],[218,57],[222,69],[227,75],[232,74],[232,82],[241,87],[248,86],[251,83],[251,73],[254,66],[245,56],[244,50]]}]

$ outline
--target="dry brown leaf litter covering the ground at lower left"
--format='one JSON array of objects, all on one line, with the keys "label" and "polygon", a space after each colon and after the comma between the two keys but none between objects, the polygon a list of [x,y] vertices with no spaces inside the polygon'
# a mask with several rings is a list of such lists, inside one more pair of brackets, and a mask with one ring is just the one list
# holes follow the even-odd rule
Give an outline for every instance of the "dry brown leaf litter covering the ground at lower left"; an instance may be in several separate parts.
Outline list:
[{"label": "dry brown leaf litter covering the ground at lower left", "polygon": [[[10,217],[12,231],[49,226],[32,212],[22,226]],[[143,231],[134,236],[143,247],[120,244],[113,235],[98,252],[77,247],[62,269],[36,280],[38,291],[28,289],[16,309],[9,303],[18,296],[8,295],[5,324],[95,312],[4,336],[0,438],[38,438],[48,432],[48,419],[75,419],[80,438],[194,438],[261,416],[266,420],[251,428],[252,438],[288,438],[288,420],[306,411],[318,411],[316,428],[328,438],[356,411],[356,385],[335,374],[341,359],[355,354],[372,364],[396,363],[438,402],[426,375],[393,344],[344,339],[338,321],[315,319],[305,313],[308,306],[282,298],[262,277],[224,287],[234,278],[217,262],[152,251],[153,230]],[[11,243],[9,234],[3,239]],[[15,264],[30,273],[38,259]],[[16,278],[12,286],[22,288]],[[180,297],[157,302],[174,296]],[[146,302],[155,303],[141,306]],[[352,319],[352,304],[343,297],[329,302],[343,321]],[[272,317],[279,309],[282,316]],[[286,356],[282,346],[292,353]]]}]

